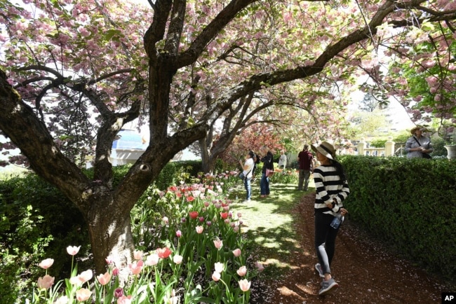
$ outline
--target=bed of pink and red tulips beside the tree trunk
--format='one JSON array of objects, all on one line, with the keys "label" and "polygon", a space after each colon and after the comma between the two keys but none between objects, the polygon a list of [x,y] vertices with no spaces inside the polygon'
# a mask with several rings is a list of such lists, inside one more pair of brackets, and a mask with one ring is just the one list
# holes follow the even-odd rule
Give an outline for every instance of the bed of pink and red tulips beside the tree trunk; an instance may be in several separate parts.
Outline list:
[{"label": "bed of pink and red tulips beside the tree trunk", "polygon": [[[31,302],[248,303],[263,266],[249,260],[242,215],[230,209],[227,188],[236,179],[231,172],[166,191],[151,188],[132,212],[132,263],[119,269],[107,256],[107,272],[94,275],[72,262],[71,277],[55,283],[53,259],[46,258]],[[74,258],[79,249],[67,252]]]}]

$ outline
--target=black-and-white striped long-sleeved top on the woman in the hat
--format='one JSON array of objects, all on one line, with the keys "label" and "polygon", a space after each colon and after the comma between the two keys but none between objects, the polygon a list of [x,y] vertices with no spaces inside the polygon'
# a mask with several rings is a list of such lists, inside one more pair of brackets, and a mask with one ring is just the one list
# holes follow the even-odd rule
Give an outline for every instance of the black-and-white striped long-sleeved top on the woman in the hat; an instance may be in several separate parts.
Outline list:
[{"label": "black-and-white striped long-sleeved top on the woman in the hat", "polygon": [[[342,181],[337,175],[336,168],[332,165],[321,165],[314,170],[314,181],[316,187],[315,212],[335,214],[342,208],[344,200],[350,193],[347,181]],[[330,209],[326,204],[333,202],[336,198],[337,205]]]}]

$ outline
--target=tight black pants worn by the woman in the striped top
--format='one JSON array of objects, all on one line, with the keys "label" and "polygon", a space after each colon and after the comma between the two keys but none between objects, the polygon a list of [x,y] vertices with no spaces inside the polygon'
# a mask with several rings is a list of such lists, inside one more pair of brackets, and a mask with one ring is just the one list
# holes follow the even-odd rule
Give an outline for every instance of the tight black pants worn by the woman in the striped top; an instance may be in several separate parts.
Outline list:
[{"label": "tight black pants worn by the woman in the striped top", "polygon": [[315,250],[323,273],[331,273],[330,265],[335,252],[335,237],[339,228],[330,226],[334,216],[331,214],[315,213]]}]

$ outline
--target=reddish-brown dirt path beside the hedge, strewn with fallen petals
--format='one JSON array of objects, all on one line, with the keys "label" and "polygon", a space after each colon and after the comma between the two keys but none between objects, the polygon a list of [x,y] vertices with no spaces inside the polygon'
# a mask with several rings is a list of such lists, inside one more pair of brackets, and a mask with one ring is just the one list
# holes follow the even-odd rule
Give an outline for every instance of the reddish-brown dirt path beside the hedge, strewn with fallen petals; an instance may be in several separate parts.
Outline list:
[{"label": "reddish-brown dirt path beside the hedge, strewn with fallen petals", "polygon": [[387,254],[348,220],[337,236],[333,259],[333,277],[339,288],[318,296],[321,279],[314,271],[314,197],[307,195],[297,205],[295,212],[302,217],[296,226],[300,252],[291,259],[293,269],[287,275],[266,282],[264,303],[441,303],[443,291],[456,291],[456,286],[444,286],[441,280]]}]

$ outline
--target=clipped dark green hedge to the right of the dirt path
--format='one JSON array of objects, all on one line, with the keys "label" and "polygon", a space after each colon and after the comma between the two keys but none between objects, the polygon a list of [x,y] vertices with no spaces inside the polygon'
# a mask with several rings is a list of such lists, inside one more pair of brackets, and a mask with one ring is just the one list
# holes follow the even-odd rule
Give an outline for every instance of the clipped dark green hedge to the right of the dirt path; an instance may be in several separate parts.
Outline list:
[{"label": "clipped dark green hedge to the right of the dirt path", "polygon": [[456,162],[345,156],[349,219],[429,272],[456,277]]}]

